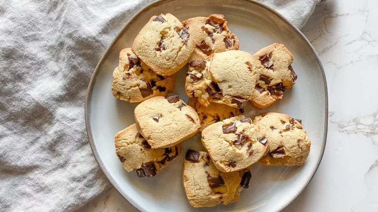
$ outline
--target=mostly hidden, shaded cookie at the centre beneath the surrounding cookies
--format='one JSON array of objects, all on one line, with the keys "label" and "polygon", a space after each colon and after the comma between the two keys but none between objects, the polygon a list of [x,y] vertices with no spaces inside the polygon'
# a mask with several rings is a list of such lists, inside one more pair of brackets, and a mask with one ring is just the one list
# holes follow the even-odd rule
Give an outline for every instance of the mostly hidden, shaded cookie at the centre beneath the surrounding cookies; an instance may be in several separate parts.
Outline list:
[{"label": "mostly hidden, shaded cookie at the centre beneath the surrounding cookies", "polygon": [[200,117],[201,127],[199,132],[205,129],[208,125],[228,119],[230,117],[243,115],[243,108],[235,108],[217,103],[210,103],[207,107],[203,106],[196,98],[189,98],[189,106],[193,107]]}]

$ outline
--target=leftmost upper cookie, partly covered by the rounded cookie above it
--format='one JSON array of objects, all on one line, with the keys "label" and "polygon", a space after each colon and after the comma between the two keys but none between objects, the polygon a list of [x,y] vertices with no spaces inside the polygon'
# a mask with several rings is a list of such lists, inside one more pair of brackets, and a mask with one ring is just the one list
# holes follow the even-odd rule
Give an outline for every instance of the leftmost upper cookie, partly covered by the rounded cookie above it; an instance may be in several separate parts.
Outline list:
[{"label": "leftmost upper cookie, partly covered by the rounded cookie above it", "polygon": [[125,48],[113,72],[111,91],[118,99],[142,102],[154,96],[166,96],[172,91],[173,83],[173,76],[157,75],[130,48]]}]

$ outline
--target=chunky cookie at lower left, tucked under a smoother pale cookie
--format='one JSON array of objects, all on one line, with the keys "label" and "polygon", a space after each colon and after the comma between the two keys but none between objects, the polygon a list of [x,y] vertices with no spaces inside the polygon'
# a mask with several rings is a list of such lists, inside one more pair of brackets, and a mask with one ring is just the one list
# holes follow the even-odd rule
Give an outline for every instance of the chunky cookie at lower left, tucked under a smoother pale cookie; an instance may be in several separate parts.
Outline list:
[{"label": "chunky cookie at lower left, tucked under a smoother pale cookie", "polygon": [[181,152],[180,145],[163,149],[151,149],[146,139],[132,124],[115,136],[115,153],[125,169],[135,170],[138,177],[153,177],[159,170],[168,166],[170,161]]}]

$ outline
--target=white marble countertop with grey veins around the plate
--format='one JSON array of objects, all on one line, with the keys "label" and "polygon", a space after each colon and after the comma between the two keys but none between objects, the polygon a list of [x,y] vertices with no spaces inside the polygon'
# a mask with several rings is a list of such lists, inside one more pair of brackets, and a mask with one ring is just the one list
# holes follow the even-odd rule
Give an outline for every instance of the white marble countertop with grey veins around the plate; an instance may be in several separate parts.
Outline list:
[{"label": "white marble countertop with grey veins around the plate", "polygon": [[[284,212],[378,211],[378,0],[325,0],[301,29],[327,76],[323,160]],[[137,212],[112,188],[78,212]]]}]

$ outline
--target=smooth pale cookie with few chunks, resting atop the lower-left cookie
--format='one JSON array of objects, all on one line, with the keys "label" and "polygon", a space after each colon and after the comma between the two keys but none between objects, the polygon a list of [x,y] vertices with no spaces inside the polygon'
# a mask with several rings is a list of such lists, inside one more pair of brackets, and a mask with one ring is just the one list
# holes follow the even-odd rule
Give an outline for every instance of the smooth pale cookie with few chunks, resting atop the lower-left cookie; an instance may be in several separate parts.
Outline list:
[{"label": "smooth pale cookie with few chunks, resting atop the lower-left cookie", "polygon": [[172,147],[201,126],[197,112],[177,95],[147,99],[135,107],[134,115],[139,132],[153,149]]}]

